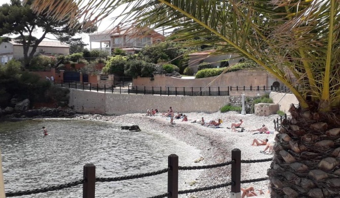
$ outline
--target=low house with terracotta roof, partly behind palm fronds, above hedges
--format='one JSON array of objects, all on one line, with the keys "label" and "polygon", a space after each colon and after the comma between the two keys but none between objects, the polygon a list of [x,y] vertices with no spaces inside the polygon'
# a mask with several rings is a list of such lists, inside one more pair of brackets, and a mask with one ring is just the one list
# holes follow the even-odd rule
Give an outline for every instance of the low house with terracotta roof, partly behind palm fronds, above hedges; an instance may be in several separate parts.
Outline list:
[{"label": "low house with terracotta roof, partly behind palm fronds, above hedges", "polygon": [[190,67],[194,73],[197,73],[198,65],[202,62],[209,62],[215,68],[223,68],[245,61],[245,58],[238,54],[214,55],[214,52],[215,50],[207,50],[189,54],[190,60],[188,67]]}]

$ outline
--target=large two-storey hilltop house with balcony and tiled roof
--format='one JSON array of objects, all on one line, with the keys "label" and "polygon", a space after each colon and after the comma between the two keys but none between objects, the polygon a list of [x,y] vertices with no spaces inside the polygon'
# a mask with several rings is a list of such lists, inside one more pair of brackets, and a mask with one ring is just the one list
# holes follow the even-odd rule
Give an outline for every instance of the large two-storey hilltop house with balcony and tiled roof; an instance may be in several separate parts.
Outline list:
[{"label": "large two-storey hilltop house with balcony and tiled roof", "polygon": [[[148,32],[146,34],[146,32]],[[106,50],[110,54],[115,48],[127,53],[139,52],[144,46],[152,45],[165,40],[165,37],[155,30],[137,29],[133,26],[116,26],[113,29],[89,35],[90,50]],[[92,48],[92,42],[99,43],[99,48]]]}]

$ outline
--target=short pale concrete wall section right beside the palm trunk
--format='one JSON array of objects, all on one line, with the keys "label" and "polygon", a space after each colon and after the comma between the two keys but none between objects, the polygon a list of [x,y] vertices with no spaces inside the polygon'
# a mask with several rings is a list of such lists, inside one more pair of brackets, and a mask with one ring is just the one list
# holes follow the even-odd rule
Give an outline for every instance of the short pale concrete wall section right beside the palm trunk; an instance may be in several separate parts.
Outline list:
[{"label": "short pale concrete wall section right beside the palm trunk", "polygon": [[294,94],[291,93],[277,93],[271,92],[269,97],[273,99],[275,104],[279,104],[280,110],[288,113],[291,104],[298,105],[299,102],[297,101]]}]

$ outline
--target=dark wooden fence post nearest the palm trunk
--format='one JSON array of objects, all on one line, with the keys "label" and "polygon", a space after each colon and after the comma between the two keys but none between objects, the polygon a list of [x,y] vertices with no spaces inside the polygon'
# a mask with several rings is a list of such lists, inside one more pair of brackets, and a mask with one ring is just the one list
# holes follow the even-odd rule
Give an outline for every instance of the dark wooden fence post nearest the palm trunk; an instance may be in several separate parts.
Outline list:
[{"label": "dark wooden fence post nearest the palm trunk", "polygon": [[232,149],[231,151],[231,192],[230,198],[241,197],[241,150]]}]

